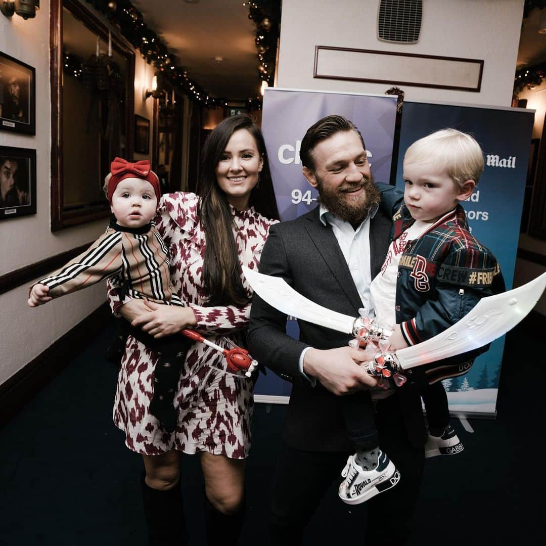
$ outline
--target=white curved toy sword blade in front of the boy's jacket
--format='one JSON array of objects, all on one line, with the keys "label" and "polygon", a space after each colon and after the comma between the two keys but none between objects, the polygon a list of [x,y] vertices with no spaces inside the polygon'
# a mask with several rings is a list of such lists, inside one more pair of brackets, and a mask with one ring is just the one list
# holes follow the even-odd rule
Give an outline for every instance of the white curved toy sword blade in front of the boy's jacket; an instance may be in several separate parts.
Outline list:
[{"label": "white curved toy sword blade in front of the boy's jacket", "polygon": [[523,286],[482,298],[472,311],[441,334],[394,354],[400,366],[408,369],[483,347],[523,320],[545,287],[543,273]]}]

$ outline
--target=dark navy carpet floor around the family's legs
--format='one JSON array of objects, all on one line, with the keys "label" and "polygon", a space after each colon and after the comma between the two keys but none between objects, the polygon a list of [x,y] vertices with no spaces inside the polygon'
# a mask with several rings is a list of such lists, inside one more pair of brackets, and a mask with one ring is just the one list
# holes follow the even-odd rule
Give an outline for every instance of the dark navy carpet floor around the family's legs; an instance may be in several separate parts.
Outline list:
[{"label": "dark navy carpet floor around the family's legs", "polygon": [[[0,430],[0,544],[145,546],[141,459],[111,420],[117,370],[104,352],[113,335],[106,328]],[[497,419],[472,419],[473,434],[454,420],[465,450],[426,461],[410,546],[544,543],[544,348],[544,332],[529,319],[508,334]],[[264,543],[285,413],[286,406],[256,406],[240,544]],[[196,457],[183,459],[182,483],[191,545],[203,545]],[[308,528],[307,545],[359,544],[361,530],[347,525],[336,486]],[[377,524],[388,532],[403,509],[393,506]]]}]

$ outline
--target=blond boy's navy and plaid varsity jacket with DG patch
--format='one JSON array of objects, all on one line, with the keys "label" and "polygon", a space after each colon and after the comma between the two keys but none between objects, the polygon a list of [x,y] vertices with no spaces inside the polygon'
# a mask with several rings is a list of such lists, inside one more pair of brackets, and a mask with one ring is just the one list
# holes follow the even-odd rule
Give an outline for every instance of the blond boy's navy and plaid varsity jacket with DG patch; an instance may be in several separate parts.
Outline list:
[{"label": "blond boy's navy and plaid varsity jacket with DG patch", "polygon": [[[393,214],[395,240],[415,221],[403,203],[403,192],[378,183],[381,206]],[[504,292],[500,266],[491,251],[472,236],[461,205],[408,241],[396,281],[396,323],[408,345],[428,340],[458,322],[484,296]],[[429,384],[462,375],[488,346],[420,366],[416,373]],[[417,369],[415,369],[417,370]]]}]

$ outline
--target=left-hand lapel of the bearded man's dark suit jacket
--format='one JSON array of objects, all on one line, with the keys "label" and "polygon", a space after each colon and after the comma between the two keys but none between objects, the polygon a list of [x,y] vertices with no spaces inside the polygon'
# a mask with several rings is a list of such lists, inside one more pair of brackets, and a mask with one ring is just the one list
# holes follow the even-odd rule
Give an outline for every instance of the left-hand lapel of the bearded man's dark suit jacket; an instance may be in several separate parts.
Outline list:
[{"label": "left-hand lapel of the bearded man's dark suit jacket", "polygon": [[313,214],[308,216],[305,229],[358,316],[358,308],[362,306],[360,295],[357,287],[354,286],[351,271],[349,271],[336,236],[332,228],[329,225],[324,225],[319,219],[318,208],[314,209]]}]

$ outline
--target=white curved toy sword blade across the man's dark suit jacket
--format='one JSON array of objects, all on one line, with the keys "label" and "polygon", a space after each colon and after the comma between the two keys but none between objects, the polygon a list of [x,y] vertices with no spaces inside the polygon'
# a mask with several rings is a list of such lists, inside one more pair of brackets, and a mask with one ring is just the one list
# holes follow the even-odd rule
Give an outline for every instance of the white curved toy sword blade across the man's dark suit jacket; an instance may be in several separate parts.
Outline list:
[{"label": "white curved toy sword blade across the man's dark suit jacket", "polygon": [[302,321],[318,324],[345,334],[353,333],[353,324],[356,317],[336,313],[327,307],[308,300],[305,296],[296,292],[281,277],[263,275],[245,266],[242,266],[242,272],[252,290],[279,311],[300,318]]}]

